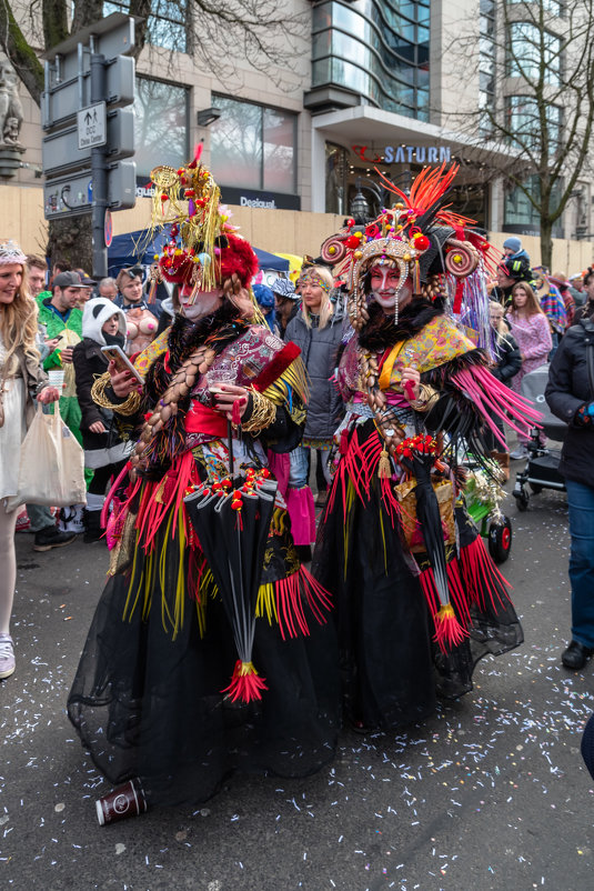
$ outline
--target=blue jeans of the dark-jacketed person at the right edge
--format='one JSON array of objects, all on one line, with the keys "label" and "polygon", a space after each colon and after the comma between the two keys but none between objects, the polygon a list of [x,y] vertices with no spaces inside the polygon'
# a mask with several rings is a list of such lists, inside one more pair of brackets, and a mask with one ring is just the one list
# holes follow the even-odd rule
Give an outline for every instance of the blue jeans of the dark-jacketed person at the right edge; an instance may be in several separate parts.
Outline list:
[{"label": "blue jeans of the dark-jacketed person at the right edge", "polygon": [[572,638],[594,649],[594,489],[566,480],[570,508]]}]

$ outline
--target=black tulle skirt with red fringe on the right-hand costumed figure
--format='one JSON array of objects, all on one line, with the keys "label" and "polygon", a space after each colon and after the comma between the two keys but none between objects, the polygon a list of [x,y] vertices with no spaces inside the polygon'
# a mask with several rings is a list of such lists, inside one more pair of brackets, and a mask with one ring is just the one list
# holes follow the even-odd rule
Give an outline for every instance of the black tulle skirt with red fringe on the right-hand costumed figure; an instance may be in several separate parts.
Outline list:
[{"label": "black tulle skirt with red fringe on the right-hand costumed figure", "polygon": [[450,548],[447,557],[456,580],[452,605],[467,635],[442,651],[423,585],[426,554],[415,553],[413,562],[406,553],[376,474],[364,498],[352,485],[343,490],[343,480],[344,467],[318,530],[312,574],[335,603],[345,717],[397,729],[431,714],[437,695],[454,699],[472,690],[476,662],[517,647],[523,632],[506,583],[460,507],[460,551]]}]

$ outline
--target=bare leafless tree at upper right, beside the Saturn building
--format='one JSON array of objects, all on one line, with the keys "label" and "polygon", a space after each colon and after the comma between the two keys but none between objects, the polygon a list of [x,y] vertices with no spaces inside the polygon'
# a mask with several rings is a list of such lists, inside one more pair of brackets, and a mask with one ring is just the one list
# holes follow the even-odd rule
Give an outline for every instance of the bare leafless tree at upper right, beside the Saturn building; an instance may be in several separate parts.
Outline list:
[{"label": "bare leafless tree at upper right, beside the Saturn building", "polygon": [[[447,116],[450,126],[466,133],[482,158],[489,131],[491,177],[503,177],[538,214],[545,264],[552,227],[586,174],[594,128],[593,0],[565,0],[561,18],[547,7],[546,0],[496,3],[493,78],[505,96],[480,112]],[[464,80],[476,80],[474,36],[452,40],[446,52]],[[560,124],[555,109],[561,110]]]}]

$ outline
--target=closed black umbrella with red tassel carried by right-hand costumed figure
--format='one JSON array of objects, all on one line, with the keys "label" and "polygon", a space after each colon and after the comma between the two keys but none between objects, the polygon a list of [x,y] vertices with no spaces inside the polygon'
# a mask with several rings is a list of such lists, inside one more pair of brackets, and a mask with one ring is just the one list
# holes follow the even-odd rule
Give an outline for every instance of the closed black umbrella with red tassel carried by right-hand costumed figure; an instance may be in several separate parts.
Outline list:
[{"label": "closed black umbrella with red tassel carried by right-hand costumed figure", "polygon": [[412,472],[416,481],[414,488],[416,517],[440,600],[440,609],[433,617],[435,640],[440,648],[444,650],[446,645],[460,643],[466,637],[466,633],[450,602],[442,518],[431,477],[431,471],[435,463],[435,452],[436,443],[430,436],[411,437],[396,447],[400,462],[406,470]]}]

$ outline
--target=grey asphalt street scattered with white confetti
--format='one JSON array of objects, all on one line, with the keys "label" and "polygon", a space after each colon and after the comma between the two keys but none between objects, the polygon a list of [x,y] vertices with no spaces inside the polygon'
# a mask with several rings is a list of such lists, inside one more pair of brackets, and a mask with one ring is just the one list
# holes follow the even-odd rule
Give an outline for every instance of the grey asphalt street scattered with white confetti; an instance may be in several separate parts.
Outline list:
[{"label": "grey asphalt street scattered with white confetti", "polygon": [[565,499],[543,492],[519,513],[510,497],[505,510],[525,643],[483,660],[469,695],[405,733],[344,731],[334,762],[308,780],[234,777],[200,808],[104,828],[93,802],[110,787],[64,703],[107,549],[34,553],[19,534],[17,672],[0,684],[0,889],[594,888],[594,782],[580,754],[594,665],[560,663]]}]

